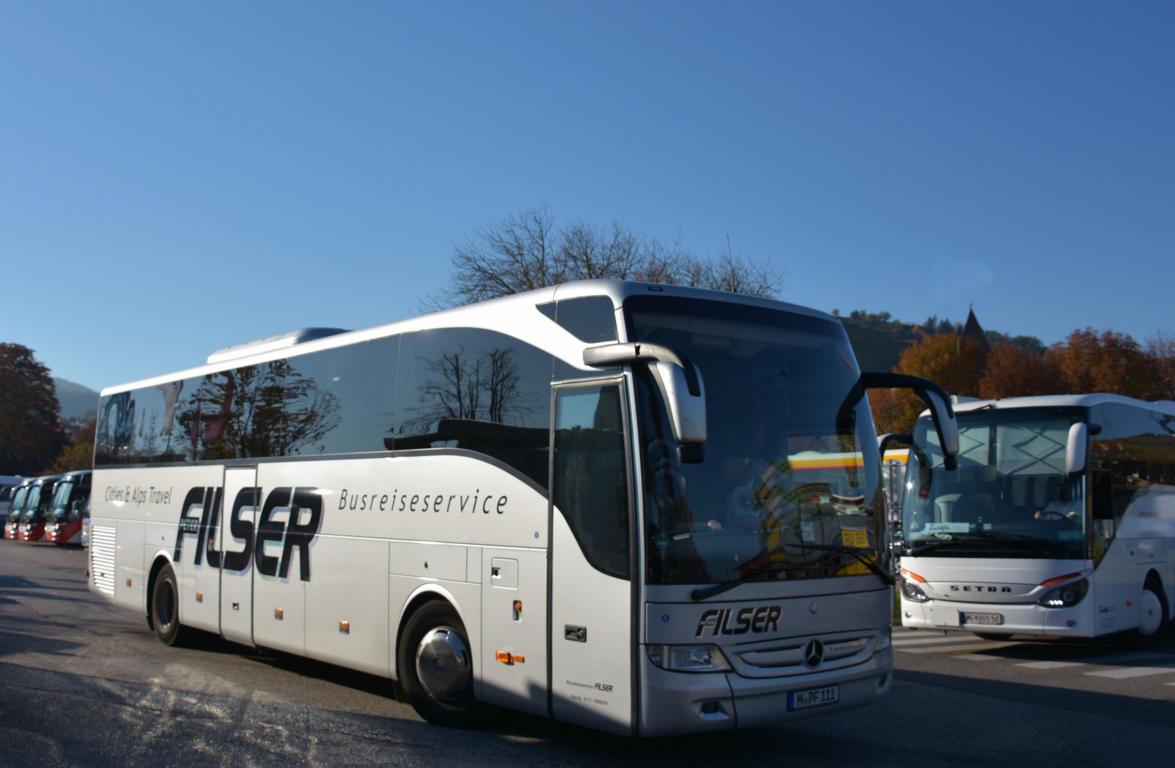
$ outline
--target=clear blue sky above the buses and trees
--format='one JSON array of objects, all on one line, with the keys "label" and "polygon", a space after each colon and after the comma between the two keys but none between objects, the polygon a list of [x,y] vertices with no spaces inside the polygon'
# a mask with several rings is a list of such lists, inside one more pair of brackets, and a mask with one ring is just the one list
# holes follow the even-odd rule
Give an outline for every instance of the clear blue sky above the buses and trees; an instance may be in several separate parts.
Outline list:
[{"label": "clear blue sky above the buses and trees", "polygon": [[1167,2],[5,2],[0,341],[95,389],[419,310],[546,207],[780,297],[1175,336]]}]

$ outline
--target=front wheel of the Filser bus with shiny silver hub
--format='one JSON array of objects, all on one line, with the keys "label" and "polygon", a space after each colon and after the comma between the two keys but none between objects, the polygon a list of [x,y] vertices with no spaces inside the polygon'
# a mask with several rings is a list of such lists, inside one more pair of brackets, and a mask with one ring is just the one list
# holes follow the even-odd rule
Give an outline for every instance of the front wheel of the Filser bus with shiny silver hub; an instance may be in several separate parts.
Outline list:
[{"label": "front wheel of the Filser bus with shiny silver hub", "polygon": [[398,649],[400,682],[429,722],[474,722],[474,658],[465,626],[446,602],[428,602],[408,620]]}]

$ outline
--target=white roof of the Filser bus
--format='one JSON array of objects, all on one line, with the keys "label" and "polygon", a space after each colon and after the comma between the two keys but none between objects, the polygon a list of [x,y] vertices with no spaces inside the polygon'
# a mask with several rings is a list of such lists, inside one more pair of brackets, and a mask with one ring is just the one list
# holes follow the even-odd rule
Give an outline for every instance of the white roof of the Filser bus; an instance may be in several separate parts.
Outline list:
[{"label": "white roof of the Filser bus", "polygon": [[[626,298],[646,295],[744,304],[747,306],[758,306],[797,315],[806,315],[810,317],[819,317],[828,321],[837,319],[827,312],[821,312],[819,310],[808,309],[797,304],[703,288],[686,288],[682,285],[663,285],[658,283],[639,283],[634,281],[620,279],[576,281],[549,288],[539,288],[522,294],[513,294],[511,296],[491,298],[474,304],[465,304],[463,306],[446,309],[438,312],[430,312],[428,315],[419,315],[417,317],[397,321],[385,325],[376,325],[363,330],[336,331],[336,329],[306,329],[308,331],[336,331],[325,336],[310,334],[311,338],[309,341],[296,341],[298,335],[304,331],[293,331],[290,334],[281,334],[264,339],[258,339],[257,342],[247,342],[244,344],[237,344],[217,350],[212,357],[209,357],[209,364],[176,371],[174,373],[154,376],[137,382],[107,386],[102,389],[101,396],[106,397],[107,395],[115,395],[118,392],[126,392],[145,386],[155,386],[181,378],[192,378],[196,376],[204,376],[207,373],[215,373],[217,371],[231,370],[241,365],[267,363],[318,350],[347,346],[385,336],[434,328],[462,328],[472,325],[477,328],[485,328],[488,330],[498,330],[533,342],[536,345],[558,356],[559,352],[557,350],[563,349],[566,351],[569,349],[573,349],[578,351],[583,349],[584,343],[575,339],[570,332],[563,330],[553,322],[536,323],[535,316],[530,314],[531,310],[556,301],[566,301],[569,298],[580,298],[585,296],[604,296],[612,299],[613,310],[619,311]],[[571,344],[572,341],[575,342],[573,344]],[[254,348],[254,345],[256,346]],[[582,359],[564,359],[576,366],[583,365]]]}]

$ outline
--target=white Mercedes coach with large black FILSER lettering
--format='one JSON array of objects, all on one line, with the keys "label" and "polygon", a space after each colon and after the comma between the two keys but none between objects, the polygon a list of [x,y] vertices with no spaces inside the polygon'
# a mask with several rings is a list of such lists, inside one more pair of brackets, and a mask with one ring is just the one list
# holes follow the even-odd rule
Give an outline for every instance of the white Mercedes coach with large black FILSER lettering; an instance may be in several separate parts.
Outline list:
[{"label": "white Mercedes coach with large black FILSER lettering", "polygon": [[[862,376],[827,315],[569,283],[102,391],[90,587],[192,629],[633,735],[891,685]],[[827,459],[827,460],[822,460]]]}]

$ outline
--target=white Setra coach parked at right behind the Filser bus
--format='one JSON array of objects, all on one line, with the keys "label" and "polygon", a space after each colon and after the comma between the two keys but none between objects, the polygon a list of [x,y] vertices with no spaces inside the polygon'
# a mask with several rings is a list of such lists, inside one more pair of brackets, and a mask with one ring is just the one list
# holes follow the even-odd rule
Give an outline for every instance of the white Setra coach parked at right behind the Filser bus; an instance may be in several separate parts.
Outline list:
[{"label": "white Setra coach parked at right behind the Filser bus", "polygon": [[902,507],[912,627],[1160,636],[1175,605],[1175,403],[956,404],[958,470],[918,423]]}]

